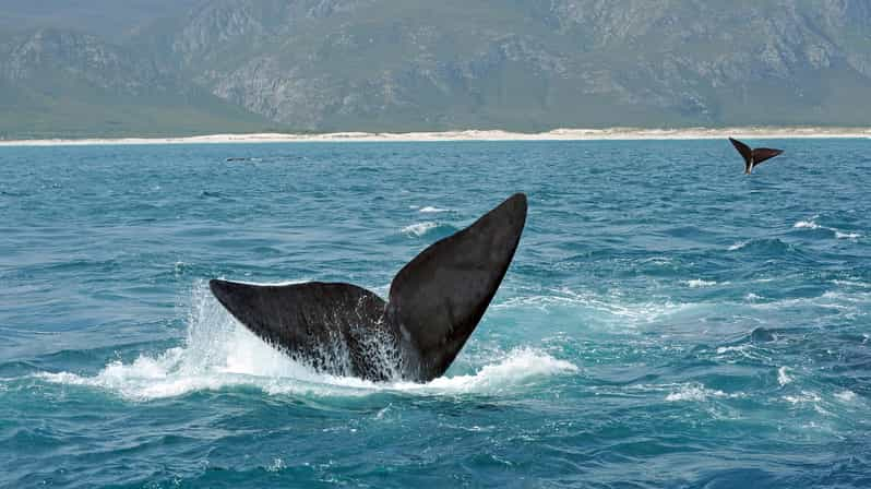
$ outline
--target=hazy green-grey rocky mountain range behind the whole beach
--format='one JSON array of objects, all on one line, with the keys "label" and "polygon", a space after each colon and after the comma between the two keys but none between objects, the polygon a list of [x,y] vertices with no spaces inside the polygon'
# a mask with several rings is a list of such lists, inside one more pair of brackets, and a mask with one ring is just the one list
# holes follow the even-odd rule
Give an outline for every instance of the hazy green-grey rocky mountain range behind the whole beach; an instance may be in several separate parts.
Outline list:
[{"label": "hazy green-grey rocky mountain range behind the whole beach", "polygon": [[0,138],[871,126],[867,0],[0,1]]}]

